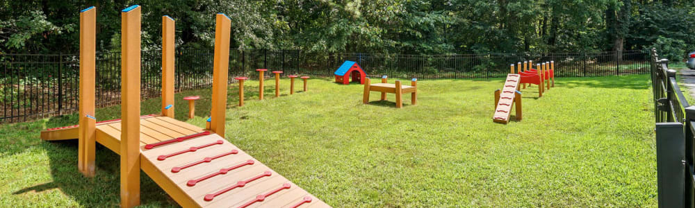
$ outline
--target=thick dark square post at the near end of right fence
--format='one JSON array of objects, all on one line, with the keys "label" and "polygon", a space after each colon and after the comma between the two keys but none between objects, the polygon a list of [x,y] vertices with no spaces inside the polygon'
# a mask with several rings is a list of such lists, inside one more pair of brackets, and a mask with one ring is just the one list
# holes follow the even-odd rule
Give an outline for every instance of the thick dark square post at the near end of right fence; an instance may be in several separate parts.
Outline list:
[{"label": "thick dark square post at the near end of right fence", "polygon": [[685,135],[683,135],[683,124],[678,122],[657,123],[656,145],[659,207],[685,207]]}]

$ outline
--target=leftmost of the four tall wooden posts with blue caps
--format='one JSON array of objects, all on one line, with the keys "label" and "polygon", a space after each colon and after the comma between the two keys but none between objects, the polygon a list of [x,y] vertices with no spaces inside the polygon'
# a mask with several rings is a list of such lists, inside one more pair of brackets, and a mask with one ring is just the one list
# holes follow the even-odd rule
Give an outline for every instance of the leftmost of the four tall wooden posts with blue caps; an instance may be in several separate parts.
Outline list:
[{"label": "leftmost of the four tall wooden posts with blue caps", "polygon": [[80,12],[80,85],[79,85],[79,171],[92,177],[95,174],[96,119],[95,60],[97,10],[92,6]]}]

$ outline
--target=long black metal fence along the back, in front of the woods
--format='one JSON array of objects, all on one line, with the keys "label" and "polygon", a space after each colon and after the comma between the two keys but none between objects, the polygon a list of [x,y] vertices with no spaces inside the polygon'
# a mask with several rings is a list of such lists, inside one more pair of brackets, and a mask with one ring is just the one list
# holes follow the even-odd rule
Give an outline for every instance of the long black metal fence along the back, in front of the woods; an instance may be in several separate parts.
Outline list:
[{"label": "long black metal fence along the back, in front of the woods", "polygon": [[[120,103],[120,52],[97,53],[97,107]],[[142,99],[161,94],[161,51],[142,51]],[[254,69],[286,74],[332,76],[345,60],[357,61],[369,76],[393,78],[496,78],[509,64],[555,61],[556,76],[611,76],[648,73],[648,53],[550,53],[545,55],[400,55],[304,53],[298,50],[231,50],[229,81]],[[0,54],[0,123],[70,114],[78,109],[79,54]],[[178,91],[212,85],[213,51],[180,50],[176,55]],[[270,76],[270,75],[268,75]]]}]

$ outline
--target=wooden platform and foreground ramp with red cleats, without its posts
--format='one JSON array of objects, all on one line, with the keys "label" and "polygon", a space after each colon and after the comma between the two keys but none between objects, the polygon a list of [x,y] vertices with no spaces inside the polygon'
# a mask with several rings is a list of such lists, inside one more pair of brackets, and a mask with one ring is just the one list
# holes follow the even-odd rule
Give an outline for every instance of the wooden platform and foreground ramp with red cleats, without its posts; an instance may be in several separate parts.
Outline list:
[{"label": "wooden platform and foreground ramp with red cleats, without its posts", "polygon": [[[97,142],[115,153],[120,135],[120,121],[97,125]],[[219,135],[167,116],[140,119],[140,168],[182,207],[329,207]]]}]

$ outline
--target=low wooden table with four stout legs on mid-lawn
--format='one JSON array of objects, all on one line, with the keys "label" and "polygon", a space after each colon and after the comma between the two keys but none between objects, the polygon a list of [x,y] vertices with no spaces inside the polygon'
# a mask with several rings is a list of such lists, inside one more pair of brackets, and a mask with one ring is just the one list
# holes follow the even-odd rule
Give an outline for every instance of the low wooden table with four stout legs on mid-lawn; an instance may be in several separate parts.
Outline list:
[{"label": "low wooden table with four stout legs on mid-lawn", "polygon": [[398,108],[403,107],[403,98],[402,98],[403,94],[410,93],[411,94],[411,103],[412,103],[412,105],[416,105],[418,103],[417,82],[418,82],[418,79],[413,78],[413,80],[411,80],[411,86],[401,85],[400,80],[395,80],[395,84],[389,84],[389,83],[371,84],[371,80],[369,78],[366,78],[365,83],[364,83],[364,95],[362,98],[362,103],[364,103],[364,104],[369,103],[369,92],[375,91],[375,92],[382,92],[382,94],[386,94],[386,93],[395,94],[395,107],[398,107]]}]

